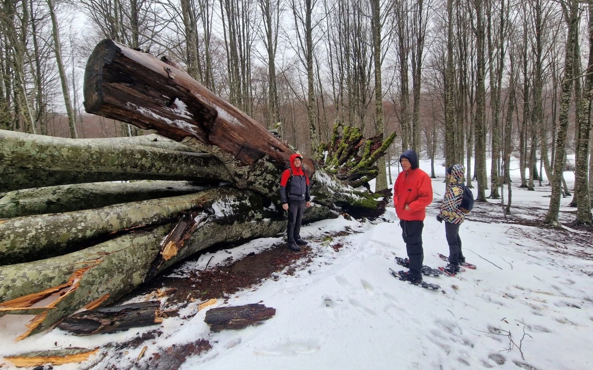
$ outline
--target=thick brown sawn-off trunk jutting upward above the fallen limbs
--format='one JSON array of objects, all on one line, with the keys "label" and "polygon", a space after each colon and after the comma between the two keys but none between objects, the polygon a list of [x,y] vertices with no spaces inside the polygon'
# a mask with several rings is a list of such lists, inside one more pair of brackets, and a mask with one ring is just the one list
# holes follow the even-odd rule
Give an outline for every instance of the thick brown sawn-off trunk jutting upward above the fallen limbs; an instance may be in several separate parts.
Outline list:
[{"label": "thick brown sawn-off trunk jutting upward above the fallen limbs", "polygon": [[[278,177],[294,154],[262,125],[186,72],[112,40],[97,44],[84,78],[84,106],[99,114],[216,155],[234,183],[276,196]],[[311,176],[313,161],[304,158]]]}]

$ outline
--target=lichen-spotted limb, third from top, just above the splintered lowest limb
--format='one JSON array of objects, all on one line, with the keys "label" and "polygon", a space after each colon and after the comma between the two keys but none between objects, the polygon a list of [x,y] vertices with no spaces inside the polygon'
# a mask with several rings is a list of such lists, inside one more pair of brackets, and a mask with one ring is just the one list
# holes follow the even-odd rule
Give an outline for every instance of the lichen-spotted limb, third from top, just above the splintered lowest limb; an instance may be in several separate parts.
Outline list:
[{"label": "lichen-spotted limb, third from top, just above the splintered lowest limb", "polygon": [[77,212],[2,219],[0,264],[60,256],[113,232],[162,224],[180,212],[201,206],[202,200],[201,193],[193,193]]}]

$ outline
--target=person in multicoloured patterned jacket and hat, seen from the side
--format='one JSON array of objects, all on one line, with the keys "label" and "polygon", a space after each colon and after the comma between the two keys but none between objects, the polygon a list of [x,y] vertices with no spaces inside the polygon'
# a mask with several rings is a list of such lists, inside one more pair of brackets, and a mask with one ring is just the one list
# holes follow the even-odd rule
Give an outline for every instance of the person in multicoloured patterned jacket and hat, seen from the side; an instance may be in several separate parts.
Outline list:
[{"label": "person in multicoloured patterned jacket and hat, seen from the side", "polygon": [[449,244],[449,264],[445,267],[446,272],[459,272],[459,263],[465,262],[466,257],[461,251],[461,238],[459,227],[466,218],[461,210],[463,199],[463,182],[466,175],[466,168],[461,164],[454,164],[447,168],[447,190],[441,204],[441,212],[436,216],[439,222],[445,221],[445,235]]}]

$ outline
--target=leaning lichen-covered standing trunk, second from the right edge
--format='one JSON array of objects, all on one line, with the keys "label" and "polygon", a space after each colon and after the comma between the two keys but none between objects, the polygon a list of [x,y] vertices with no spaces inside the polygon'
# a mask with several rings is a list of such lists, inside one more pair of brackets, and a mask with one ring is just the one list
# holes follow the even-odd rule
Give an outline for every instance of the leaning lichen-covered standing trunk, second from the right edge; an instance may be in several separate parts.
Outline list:
[{"label": "leaning lichen-covered standing trunk, second from the right edge", "polygon": [[566,36],[566,56],[564,76],[562,78],[562,99],[560,100],[560,114],[558,122],[558,134],[556,137],[556,155],[554,156],[554,169],[550,183],[552,185],[552,193],[550,197],[550,207],[544,219],[544,224],[560,226],[558,221],[558,213],[560,212],[560,196],[562,195],[562,171],[564,165],[564,155],[566,147],[566,132],[568,130],[568,113],[570,100],[572,97],[573,73],[575,63],[575,43],[579,32],[579,17],[578,17],[578,0],[570,0],[568,4],[563,4],[565,11],[566,23],[568,24],[568,35]]}]

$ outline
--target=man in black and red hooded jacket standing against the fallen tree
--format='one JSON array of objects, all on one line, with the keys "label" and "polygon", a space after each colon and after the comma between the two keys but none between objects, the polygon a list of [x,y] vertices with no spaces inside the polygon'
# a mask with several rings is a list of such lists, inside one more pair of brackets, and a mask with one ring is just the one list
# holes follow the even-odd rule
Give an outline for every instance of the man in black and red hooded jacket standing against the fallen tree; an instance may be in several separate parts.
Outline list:
[{"label": "man in black and red hooded jacket standing against the fallen tree", "polygon": [[286,227],[288,248],[299,251],[301,250],[300,245],[307,245],[307,242],[301,239],[300,232],[302,213],[305,207],[311,206],[311,196],[309,178],[301,167],[301,155],[291,155],[290,162],[291,167],[284,171],[280,179],[280,200],[282,200],[282,208],[288,210],[288,226]]}]

